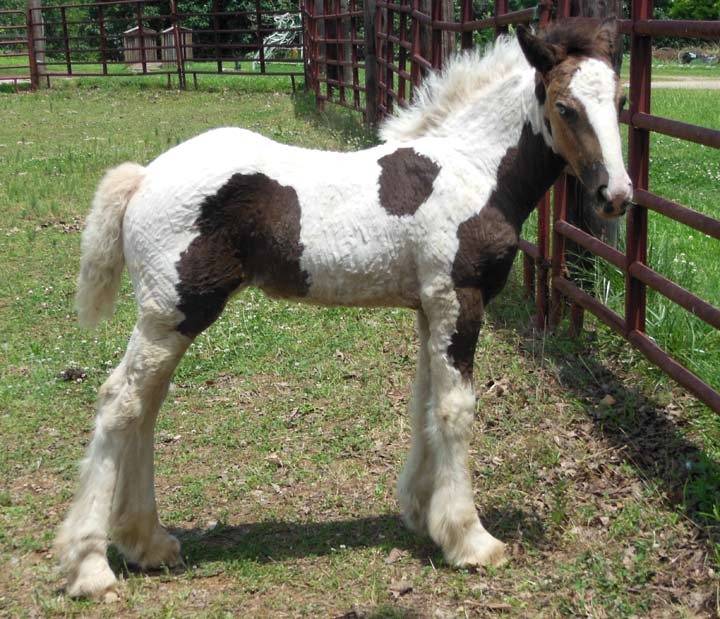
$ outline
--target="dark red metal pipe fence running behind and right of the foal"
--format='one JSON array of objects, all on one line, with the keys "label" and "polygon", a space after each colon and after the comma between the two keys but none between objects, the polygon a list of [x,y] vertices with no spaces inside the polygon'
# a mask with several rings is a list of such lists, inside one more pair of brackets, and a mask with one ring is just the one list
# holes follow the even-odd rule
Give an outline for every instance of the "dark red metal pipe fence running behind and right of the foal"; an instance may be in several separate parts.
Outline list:
[{"label": "dark red metal pipe fence running behind and right of the foal", "polygon": [[[406,105],[412,88],[429,70],[441,68],[448,51],[468,49],[483,31],[497,35],[510,24],[570,17],[577,2],[541,1],[537,7],[508,12],[507,0],[495,1],[495,14],[475,19],[471,0],[460,0],[459,19],[443,15],[439,0],[308,0],[305,5],[310,85],[319,105],[350,107],[374,124]],[[457,7],[456,7],[457,11]],[[720,221],[648,191],[651,132],[720,148],[720,131],[650,114],[651,42],[655,36],[720,38],[720,22],[652,19],[652,0],[633,0],[630,18],[619,20],[630,38],[630,109],[621,114],[629,125],[628,167],[635,186],[634,207],[627,217],[626,253],[568,221],[569,204],[579,193],[575,180],[563,176],[550,197],[538,204],[537,243],[521,240],[524,283],[535,294],[540,325],[557,324],[569,301],[571,327],[582,327],[587,310],[624,337],[650,361],[720,413],[717,386],[703,382],[662,350],[646,334],[647,287],[720,329],[720,309],[657,273],[647,264],[647,212],[655,211],[720,240]],[[361,19],[362,16],[362,19]],[[363,60],[361,60],[363,59]],[[362,74],[359,70],[362,70]],[[364,76],[360,77],[360,76]],[[353,93],[348,98],[347,93]],[[362,96],[359,96],[359,95]],[[588,250],[625,275],[625,312],[618,315],[567,275],[567,245]],[[720,259],[720,245],[717,249]]]}]

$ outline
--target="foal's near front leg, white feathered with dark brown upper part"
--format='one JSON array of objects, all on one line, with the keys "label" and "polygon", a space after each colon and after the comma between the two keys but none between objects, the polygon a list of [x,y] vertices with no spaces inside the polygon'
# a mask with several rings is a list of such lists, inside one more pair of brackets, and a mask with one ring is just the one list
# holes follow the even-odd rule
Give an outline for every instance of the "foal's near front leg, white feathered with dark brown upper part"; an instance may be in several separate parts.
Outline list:
[{"label": "foal's near front leg, white feathered with dark brown upper part", "polygon": [[505,544],[480,523],[468,468],[475,414],[472,368],[482,294],[477,289],[457,289],[428,305],[431,399],[426,432],[433,463],[428,532],[452,565],[499,565]]}]

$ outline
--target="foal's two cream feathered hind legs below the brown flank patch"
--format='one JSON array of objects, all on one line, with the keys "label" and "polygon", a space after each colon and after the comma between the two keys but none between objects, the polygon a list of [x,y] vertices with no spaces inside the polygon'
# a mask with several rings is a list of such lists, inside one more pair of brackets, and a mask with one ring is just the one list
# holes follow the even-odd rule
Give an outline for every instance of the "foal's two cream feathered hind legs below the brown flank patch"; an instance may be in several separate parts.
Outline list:
[{"label": "foal's two cream feathered hind legs below the brown flank patch", "polygon": [[157,410],[189,343],[166,324],[140,317],[123,360],[100,389],[80,488],[55,542],[72,596],[114,587],[106,556],[111,526],[131,558],[179,558],[177,541],[157,522],[151,441]]}]

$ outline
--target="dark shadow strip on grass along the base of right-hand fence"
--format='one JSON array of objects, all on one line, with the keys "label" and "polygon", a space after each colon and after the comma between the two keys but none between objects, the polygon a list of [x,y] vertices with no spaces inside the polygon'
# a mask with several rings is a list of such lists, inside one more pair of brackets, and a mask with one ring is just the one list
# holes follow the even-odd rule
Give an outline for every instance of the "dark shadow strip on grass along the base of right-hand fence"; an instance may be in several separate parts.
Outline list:
[{"label": "dark shadow strip on grass along the base of right-hand fence", "polygon": [[[528,327],[534,308],[522,302],[523,291],[516,282],[504,294],[509,300],[490,306],[488,315],[496,325],[517,330],[523,340],[521,353],[533,357],[532,351],[539,348],[536,340],[542,337]],[[531,309],[518,311],[519,306]],[[720,543],[720,514],[715,511],[713,516],[720,504],[720,465],[683,436],[680,427],[687,420],[679,409],[662,405],[599,363],[591,338],[571,339],[565,325],[549,334],[542,348],[558,368],[568,397],[581,403],[597,435],[621,449],[641,478],[657,484],[669,509],[683,513],[710,541]],[[599,404],[606,395],[615,400],[610,407]]]}]

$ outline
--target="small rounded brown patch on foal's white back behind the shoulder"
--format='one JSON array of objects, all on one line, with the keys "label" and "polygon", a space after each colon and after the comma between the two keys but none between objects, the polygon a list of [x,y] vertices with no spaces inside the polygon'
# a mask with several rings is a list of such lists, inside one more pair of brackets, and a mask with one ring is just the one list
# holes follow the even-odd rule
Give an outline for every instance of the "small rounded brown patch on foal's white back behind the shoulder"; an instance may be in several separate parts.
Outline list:
[{"label": "small rounded brown patch on foal's white back behind the shoulder", "polygon": [[430,197],[440,167],[412,148],[399,148],[378,160],[380,204],[391,215],[414,215]]}]

